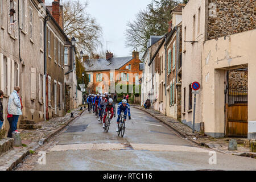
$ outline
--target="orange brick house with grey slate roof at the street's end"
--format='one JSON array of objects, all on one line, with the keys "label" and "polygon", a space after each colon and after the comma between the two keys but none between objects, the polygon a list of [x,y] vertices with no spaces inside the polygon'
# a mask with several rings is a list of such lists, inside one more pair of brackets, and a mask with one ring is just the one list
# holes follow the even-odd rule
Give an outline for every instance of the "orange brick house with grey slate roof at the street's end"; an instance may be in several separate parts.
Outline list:
[{"label": "orange brick house with grey slate roof at the street's end", "polygon": [[113,57],[113,53],[107,52],[106,59],[84,59],[84,67],[89,75],[89,85],[94,84],[94,93],[118,93],[115,83],[123,85],[137,85],[142,77],[139,70],[139,53],[133,51],[133,56]]}]

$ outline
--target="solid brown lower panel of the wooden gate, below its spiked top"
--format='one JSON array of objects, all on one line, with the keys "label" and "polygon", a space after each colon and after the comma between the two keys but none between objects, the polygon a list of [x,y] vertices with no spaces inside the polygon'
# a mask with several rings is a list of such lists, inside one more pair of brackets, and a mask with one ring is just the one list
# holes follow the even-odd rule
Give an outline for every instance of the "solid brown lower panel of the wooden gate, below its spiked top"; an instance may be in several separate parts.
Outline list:
[{"label": "solid brown lower panel of the wooden gate, below its spiked top", "polygon": [[248,106],[247,103],[228,105],[227,137],[247,137]]}]

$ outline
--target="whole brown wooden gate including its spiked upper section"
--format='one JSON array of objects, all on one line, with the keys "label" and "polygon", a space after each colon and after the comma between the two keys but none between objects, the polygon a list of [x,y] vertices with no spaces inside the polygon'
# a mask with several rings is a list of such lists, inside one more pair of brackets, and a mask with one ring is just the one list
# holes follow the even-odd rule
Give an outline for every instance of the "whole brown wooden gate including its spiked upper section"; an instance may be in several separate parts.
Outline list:
[{"label": "whole brown wooden gate including its spiked upper section", "polygon": [[247,88],[230,87],[228,90],[228,114],[226,122],[226,137],[247,137],[248,105]]}]

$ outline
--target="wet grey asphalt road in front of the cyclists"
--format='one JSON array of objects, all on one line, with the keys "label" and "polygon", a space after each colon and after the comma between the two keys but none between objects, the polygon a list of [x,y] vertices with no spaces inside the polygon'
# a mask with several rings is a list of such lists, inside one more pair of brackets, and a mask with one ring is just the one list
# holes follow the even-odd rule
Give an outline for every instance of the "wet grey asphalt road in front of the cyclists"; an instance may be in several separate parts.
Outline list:
[{"label": "wet grey asphalt road in front of the cyclists", "polygon": [[210,165],[211,150],[194,146],[141,110],[132,107],[131,117],[121,138],[117,118],[104,133],[96,116],[85,111],[54,139],[46,165],[33,170],[256,170],[255,159],[218,152],[217,164]]}]

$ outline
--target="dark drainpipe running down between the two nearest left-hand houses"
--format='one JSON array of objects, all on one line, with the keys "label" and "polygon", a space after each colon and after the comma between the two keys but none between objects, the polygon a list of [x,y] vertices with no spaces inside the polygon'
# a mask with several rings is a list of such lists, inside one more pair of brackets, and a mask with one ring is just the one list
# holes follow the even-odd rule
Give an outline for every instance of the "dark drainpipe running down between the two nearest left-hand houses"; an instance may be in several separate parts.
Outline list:
[{"label": "dark drainpipe running down between the two nearest left-hand houses", "polygon": [[[47,100],[47,105],[46,105],[46,93],[48,96],[48,89],[46,90],[46,78],[47,78],[46,27],[47,27],[47,22],[50,19],[51,19],[51,15],[49,15],[49,14],[47,14],[47,16],[44,17],[44,79],[43,79],[44,121],[46,121],[46,112],[48,112],[48,100]],[[47,87],[48,87],[48,84],[47,84]]]}]

